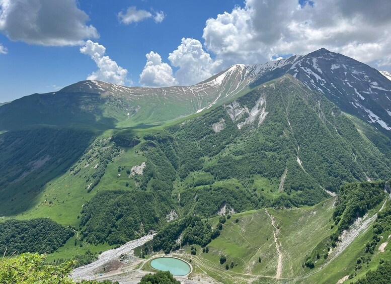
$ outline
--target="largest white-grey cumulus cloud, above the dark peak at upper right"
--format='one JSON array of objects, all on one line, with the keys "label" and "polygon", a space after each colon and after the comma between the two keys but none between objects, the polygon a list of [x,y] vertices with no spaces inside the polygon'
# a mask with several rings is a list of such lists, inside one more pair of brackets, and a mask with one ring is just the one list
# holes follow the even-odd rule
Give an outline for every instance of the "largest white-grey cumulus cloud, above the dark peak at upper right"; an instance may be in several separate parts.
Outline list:
[{"label": "largest white-grey cumulus cloud, above the dark peak at upper right", "polygon": [[208,52],[234,63],[260,63],[325,47],[365,63],[391,64],[389,0],[246,0],[206,21]]}]

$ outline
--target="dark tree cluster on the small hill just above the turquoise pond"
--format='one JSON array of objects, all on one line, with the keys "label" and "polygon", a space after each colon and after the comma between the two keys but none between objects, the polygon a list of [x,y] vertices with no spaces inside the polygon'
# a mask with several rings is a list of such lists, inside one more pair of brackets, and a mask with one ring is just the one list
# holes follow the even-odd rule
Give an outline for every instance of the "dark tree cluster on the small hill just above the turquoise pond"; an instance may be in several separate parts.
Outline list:
[{"label": "dark tree cluster on the small hill just above the turquoise pond", "polygon": [[[177,239],[182,236],[181,243]],[[152,240],[154,251],[163,250],[166,254],[179,249],[181,245],[198,244],[205,247],[212,239],[218,237],[220,231],[212,229],[211,225],[198,216],[187,216],[170,222]]]}]

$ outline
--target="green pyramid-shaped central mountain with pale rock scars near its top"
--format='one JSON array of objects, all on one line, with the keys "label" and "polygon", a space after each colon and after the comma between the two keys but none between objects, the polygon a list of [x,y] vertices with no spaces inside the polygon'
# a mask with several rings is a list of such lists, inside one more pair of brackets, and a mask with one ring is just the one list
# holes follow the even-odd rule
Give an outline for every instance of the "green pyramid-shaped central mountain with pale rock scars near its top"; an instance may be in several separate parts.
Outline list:
[{"label": "green pyramid-shaped central mountain with pale rock scars near its top", "polygon": [[[370,133],[381,141],[378,144],[389,141]],[[5,187],[1,193],[2,215],[16,216],[24,208],[28,211],[23,218],[53,216],[63,224],[78,224],[75,217],[86,201],[99,191],[120,189],[169,193],[174,200],[164,214],[174,209],[179,216],[193,211],[209,217],[224,206],[242,212],[268,206],[315,205],[329,196],[326,190],[336,192],[344,182],[391,175],[385,146],[377,148],[359,124],[290,75],[165,129],[110,132],[112,139],[106,135],[101,134],[89,147],[81,147],[80,154],[72,154],[78,161],[68,164],[66,173],[59,172],[50,182],[41,181],[33,200],[30,195],[18,194],[10,183],[10,189]],[[124,139],[115,137],[141,143],[126,147]],[[74,150],[72,143],[66,145]],[[14,144],[15,151],[4,158],[26,158],[16,150],[23,145]],[[50,145],[48,142],[45,147]],[[41,156],[34,156],[34,161]],[[132,167],[142,162],[143,174],[131,174]],[[3,176],[15,180],[24,171],[14,176],[10,172],[15,172],[10,166],[3,168]],[[18,182],[31,181],[26,175]],[[8,206],[15,198],[17,206]]]}]

